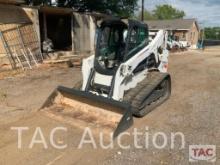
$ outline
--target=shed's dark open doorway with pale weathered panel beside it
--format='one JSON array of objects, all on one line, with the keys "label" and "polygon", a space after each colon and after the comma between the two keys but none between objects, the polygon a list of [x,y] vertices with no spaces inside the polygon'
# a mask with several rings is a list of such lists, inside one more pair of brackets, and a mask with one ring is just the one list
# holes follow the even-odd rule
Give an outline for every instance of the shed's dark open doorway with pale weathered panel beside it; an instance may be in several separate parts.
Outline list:
[{"label": "shed's dark open doorway with pale weathered panel beside it", "polygon": [[96,23],[91,14],[68,8],[39,8],[41,43],[50,39],[55,51],[85,54],[94,51]]}]

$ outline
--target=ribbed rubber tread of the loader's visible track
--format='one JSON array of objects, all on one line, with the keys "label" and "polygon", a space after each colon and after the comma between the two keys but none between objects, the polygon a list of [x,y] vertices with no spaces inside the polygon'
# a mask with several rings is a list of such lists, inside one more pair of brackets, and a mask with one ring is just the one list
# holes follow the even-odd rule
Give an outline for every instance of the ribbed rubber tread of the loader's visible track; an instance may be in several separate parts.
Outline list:
[{"label": "ribbed rubber tread of the loader's visible track", "polygon": [[153,108],[160,105],[162,102],[158,102],[155,105],[145,107],[145,110],[140,111],[140,107],[143,105],[143,100],[148,97],[154,89],[167,77],[169,74],[160,72],[149,72],[147,77],[137,84],[135,88],[130,89],[125,93],[124,101],[128,102],[132,106],[133,114],[138,117],[143,117],[149,113]]}]

